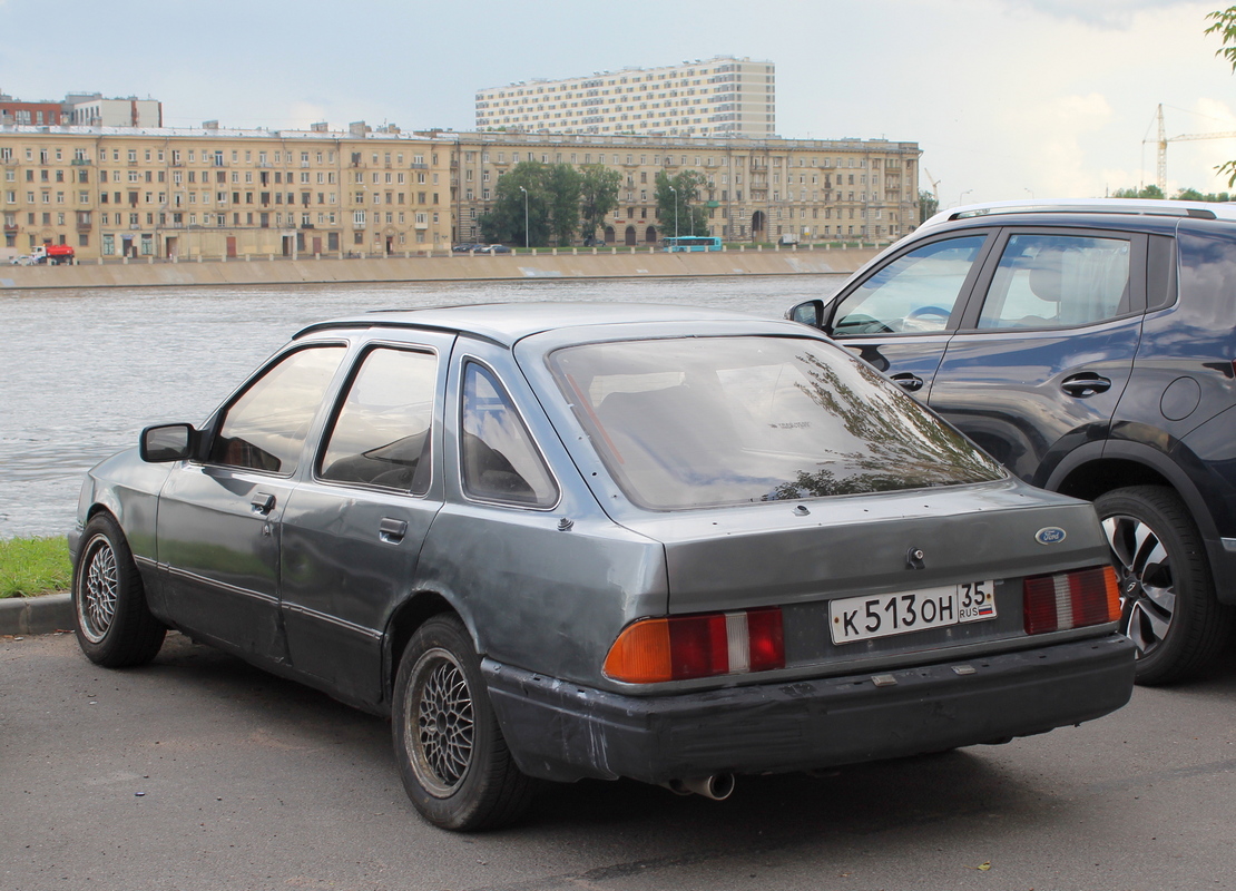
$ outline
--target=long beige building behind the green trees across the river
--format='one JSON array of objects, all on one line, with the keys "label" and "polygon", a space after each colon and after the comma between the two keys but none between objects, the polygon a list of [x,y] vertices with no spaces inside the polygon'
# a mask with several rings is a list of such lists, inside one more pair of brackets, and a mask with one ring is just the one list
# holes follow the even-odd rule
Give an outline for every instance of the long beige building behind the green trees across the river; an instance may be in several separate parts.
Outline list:
[{"label": "long beige building behind the green trees across the river", "polygon": [[[727,241],[889,242],[917,225],[916,142],[662,136],[446,133],[454,141],[457,241],[481,236],[498,179],[523,161],[604,164],[622,174],[606,243],[656,243],[674,234],[656,215],[659,171],[698,171],[711,235]],[[599,234],[598,234],[599,235]]]}]

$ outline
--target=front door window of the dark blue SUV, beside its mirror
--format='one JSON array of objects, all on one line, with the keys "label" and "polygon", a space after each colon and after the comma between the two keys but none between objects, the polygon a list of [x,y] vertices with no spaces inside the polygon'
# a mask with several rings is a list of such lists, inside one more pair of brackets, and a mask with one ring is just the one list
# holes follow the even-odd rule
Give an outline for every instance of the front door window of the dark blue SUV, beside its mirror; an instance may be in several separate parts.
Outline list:
[{"label": "front door window of the dark blue SUV, beside its mirror", "polygon": [[986,235],[933,241],[879,269],[837,306],[833,334],[943,331]]}]

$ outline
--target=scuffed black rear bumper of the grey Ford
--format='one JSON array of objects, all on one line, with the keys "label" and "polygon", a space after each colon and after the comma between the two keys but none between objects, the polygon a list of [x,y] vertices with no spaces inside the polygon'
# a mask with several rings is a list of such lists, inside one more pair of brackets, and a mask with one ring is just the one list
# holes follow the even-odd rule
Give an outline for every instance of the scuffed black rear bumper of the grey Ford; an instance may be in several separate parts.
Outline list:
[{"label": "scuffed black rear bumper of the grey Ford", "polygon": [[[958,674],[965,665],[973,674]],[[1133,646],[1119,634],[870,675],[634,697],[485,660],[520,770],[549,780],[645,782],[810,770],[1005,740],[1128,702]]]}]

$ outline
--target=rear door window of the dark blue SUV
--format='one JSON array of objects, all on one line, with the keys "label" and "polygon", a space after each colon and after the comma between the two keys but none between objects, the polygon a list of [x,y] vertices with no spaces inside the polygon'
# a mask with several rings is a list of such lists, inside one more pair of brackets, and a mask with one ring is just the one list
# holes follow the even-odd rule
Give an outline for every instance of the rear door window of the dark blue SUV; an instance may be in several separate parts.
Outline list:
[{"label": "rear door window of the dark blue SUV", "polygon": [[1012,235],[1000,257],[980,329],[1090,325],[1130,310],[1127,239]]}]

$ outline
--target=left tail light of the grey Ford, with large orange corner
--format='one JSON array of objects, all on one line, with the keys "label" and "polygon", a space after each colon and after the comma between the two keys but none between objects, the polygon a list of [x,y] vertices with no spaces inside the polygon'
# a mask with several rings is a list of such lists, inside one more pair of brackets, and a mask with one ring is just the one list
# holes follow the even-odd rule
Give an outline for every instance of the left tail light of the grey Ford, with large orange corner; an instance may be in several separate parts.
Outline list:
[{"label": "left tail light of the grey Ford, with large orange corner", "polygon": [[785,667],[781,610],[640,619],[606,656],[606,677],[627,683],[685,681]]}]

